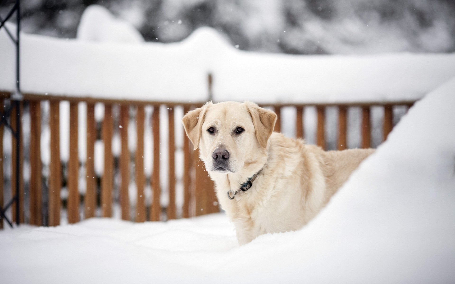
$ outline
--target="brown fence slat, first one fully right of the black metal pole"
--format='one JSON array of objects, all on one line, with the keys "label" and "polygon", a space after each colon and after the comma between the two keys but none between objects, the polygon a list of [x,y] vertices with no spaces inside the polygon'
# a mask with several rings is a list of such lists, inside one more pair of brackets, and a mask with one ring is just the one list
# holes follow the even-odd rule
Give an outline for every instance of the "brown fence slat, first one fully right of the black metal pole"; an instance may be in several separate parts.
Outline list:
[{"label": "brown fence slat, first one fully right of the black metal pole", "polygon": [[42,226],[41,102],[30,101],[30,224]]}]

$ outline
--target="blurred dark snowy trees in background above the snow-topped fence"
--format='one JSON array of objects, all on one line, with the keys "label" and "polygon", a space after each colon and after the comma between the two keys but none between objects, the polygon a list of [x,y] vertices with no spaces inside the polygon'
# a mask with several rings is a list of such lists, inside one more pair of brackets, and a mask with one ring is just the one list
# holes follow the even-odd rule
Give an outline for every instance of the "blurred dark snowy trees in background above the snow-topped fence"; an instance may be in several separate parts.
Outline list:
[{"label": "blurred dark snowy trees in background above the snow-topped fence", "polygon": [[[5,15],[14,0],[0,1]],[[75,38],[88,5],[106,7],[146,41],[210,26],[241,50],[288,54],[453,52],[454,0],[24,0],[23,31]]]}]

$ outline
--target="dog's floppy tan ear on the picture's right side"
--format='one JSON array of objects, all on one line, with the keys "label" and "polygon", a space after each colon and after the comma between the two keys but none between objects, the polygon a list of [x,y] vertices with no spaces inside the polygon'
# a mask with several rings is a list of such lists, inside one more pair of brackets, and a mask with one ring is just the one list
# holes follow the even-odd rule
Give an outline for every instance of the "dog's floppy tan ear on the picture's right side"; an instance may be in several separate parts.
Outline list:
[{"label": "dog's floppy tan ear on the picture's right side", "polygon": [[247,104],[251,118],[253,119],[256,139],[261,147],[267,148],[267,141],[270,138],[270,135],[272,135],[275,122],[277,121],[277,115],[273,111],[263,109],[254,103],[245,103]]}]

